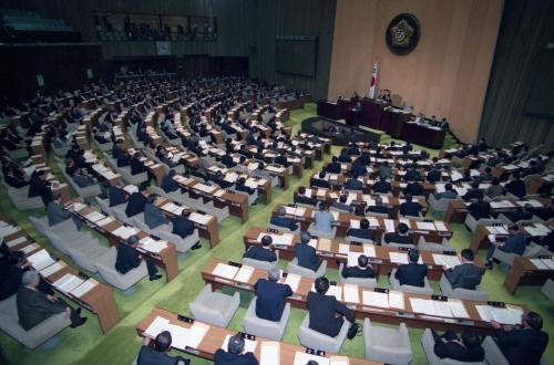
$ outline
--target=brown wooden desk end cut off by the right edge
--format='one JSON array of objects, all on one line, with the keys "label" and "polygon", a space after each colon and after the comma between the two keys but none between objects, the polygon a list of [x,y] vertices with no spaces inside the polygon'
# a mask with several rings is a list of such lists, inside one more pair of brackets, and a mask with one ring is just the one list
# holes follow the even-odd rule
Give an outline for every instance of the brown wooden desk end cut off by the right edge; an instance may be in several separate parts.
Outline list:
[{"label": "brown wooden desk end cut off by the right edge", "polygon": [[540,270],[531,258],[516,257],[504,280],[504,288],[513,295],[520,285],[542,285],[547,279],[554,279],[554,270]]}]

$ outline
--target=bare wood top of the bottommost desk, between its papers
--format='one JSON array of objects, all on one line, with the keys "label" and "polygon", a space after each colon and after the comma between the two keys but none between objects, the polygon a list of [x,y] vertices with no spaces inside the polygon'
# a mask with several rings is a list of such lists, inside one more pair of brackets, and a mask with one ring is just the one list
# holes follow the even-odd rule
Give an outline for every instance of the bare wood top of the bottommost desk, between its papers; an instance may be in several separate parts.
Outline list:
[{"label": "bare wood top of the bottommost desk, between its papers", "polygon": [[[146,336],[145,331],[148,328],[148,326],[152,324],[152,322],[154,322],[154,320],[158,316],[166,319],[166,320],[170,320],[170,324],[173,324],[173,325],[178,325],[178,326],[182,326],[184,328],[189,328],[192,326],[192,324],[189,324],[189,323],[177,320],[177,313],[173,313],[173,312],[170,312],[166,310],[154,307],[152,310],[152,312],[144,320],[142,320],[141,323],[138,323],[138,325],[136,326],[136,332],[138,333],[138,335]],[[198,323],[203,323],[203,322],[198,322]],[[186,347],[186,348],[173,347],[173,348],[182,351],[182,352],[191,354],[191,355],[194,355],[194,356],[198,356],[202,358],[207,358],[207,359],[213,361],[215,352],[219,347],[222,347],[222,345],[224,344],[225,337],[227,335],[233,336],[236,334],[236,332],[227,330],[227,328],[218,327],[218,326],[211,325],[207,323],[203,323],[203,324],[208,326],[209,330],[205,334],[204,338],[202,340],[202,342],[199,343],[197,348],[191,348],[191,347]],[[258,344],[257,344],[256,351],[254,353],[254,355],[258,359],[261,358],[261,354],[260,354],[261,343],[266,342],[266,341],[279,344],[280,364],[284,364],[284,365],[294,363],[296,352],[300,352],[300,353],[306,352],[306,348],[302,346],[287,344],[284,342],[275,342],[273,340],[267,340],[267,338],[258,336],[258,337],[256,337],[256,342]],[[330,357],[330,355],[327,354],[326,357]],[[377,364],[380,364],[380,363],[371,362],[368,359],[355,358],[355,357],[349,357],[348,361],[349,361],[350,365],[377,365]]]}]

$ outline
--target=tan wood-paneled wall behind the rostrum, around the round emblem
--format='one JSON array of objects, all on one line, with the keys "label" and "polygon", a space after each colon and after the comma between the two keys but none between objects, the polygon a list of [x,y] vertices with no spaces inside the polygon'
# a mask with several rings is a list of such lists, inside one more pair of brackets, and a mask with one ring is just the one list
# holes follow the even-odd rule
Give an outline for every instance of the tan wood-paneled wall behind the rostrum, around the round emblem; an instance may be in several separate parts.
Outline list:
[{"label": "tan wood-paneled wall behind the rostrum, around the round emblem", "polygon": [[[502,8],[503,0],[337,0],[328,97],[367,94],[378,62],[379,88],[416,112],[447,117],[462,142],[474,140]],[[399,56],[384,32],[401,12],[419,19],[421,39]]]}]

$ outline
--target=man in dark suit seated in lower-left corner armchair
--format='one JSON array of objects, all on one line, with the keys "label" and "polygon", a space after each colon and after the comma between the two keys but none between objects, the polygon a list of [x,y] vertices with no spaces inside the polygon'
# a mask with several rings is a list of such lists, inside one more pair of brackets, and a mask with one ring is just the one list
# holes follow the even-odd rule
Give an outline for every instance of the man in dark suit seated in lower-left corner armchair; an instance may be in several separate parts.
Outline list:
[{"label": "man in dark suit seated in lower-left corner armchair", "polygon": [[25,271],[21,277],[21,286],[18,290],[17,306],[19,324],[29,331],[54,314],[65,312],[71,320],[71,327],[78,327],[86,322],[81,317],[81,309],[73,310],[64,301],[38,290],[40,277],[37,271]]}]

